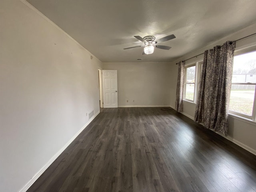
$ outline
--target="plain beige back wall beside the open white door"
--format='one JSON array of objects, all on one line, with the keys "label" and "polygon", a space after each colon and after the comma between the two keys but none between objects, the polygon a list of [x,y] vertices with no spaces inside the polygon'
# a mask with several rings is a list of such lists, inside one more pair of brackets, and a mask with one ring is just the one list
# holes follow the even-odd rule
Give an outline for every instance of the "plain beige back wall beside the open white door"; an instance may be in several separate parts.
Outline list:
[{"label": "plain beige back wall beside the open white door", "polygon": [[117,70],[118,106],[170,105],[170,63],[103,63],[103,68]]}]

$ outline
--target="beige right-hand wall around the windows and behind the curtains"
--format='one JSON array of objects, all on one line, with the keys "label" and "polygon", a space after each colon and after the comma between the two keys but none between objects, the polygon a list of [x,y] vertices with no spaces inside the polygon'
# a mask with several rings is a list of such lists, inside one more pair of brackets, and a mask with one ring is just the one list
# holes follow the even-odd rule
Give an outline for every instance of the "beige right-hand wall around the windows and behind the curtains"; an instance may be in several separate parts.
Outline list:
[{"label": "beige right-hand wall around the windows and behind the curtains", "polygon": [[[192,56],[196,56],[198,54],[203,53],[205,50],[213,48],[216,45],[222,45],[224,42],[228,40],[237,40],[240,38],[243,38],[245,36],[248,36],[250,34],[254,34],[256,31],[256,24],[251,25],[247,28],[244,28],[234,34],[231,34],[229,36],[226,36],[216,42],[213,42],[210,45],[207,45],[203,48],[200,48],[199,50],[192,52],[175,62],[172,62],[171,64],[171,71],[172,71],[172,84],[171,87],[171,103],[170,106],[174,108],[175,106],[175,98],[176,98],[176,85],[177,85],[177,77],[178,77],[178,65],[176,65],[176,62],[180,60],[186,60]],[[250,38],[246,38],[244,40],[240,40],[236,42],[236,50],[240,48],[245,48],[248,46],[256,45],[256,36],[252,36]],[[203,55],[198,56],[198,58],[193,58],[191,60],[186,61],[186,63],[193,62],[196,60],[203,58]],[[190,102],[184,101],[184,110],[183,114],[190,118],[194,118],[194,112],[195,112],[195,104],[192,104]],[[238,144],[239,146],[242,146],[246,150],[256,154],[256,123],[255,122],[248,122],[246,120],[242,120],[241,118],[237,118],[234,116],[229,116],[229,130],[228,130],[228,136],[225,137],[234,143]]]}]

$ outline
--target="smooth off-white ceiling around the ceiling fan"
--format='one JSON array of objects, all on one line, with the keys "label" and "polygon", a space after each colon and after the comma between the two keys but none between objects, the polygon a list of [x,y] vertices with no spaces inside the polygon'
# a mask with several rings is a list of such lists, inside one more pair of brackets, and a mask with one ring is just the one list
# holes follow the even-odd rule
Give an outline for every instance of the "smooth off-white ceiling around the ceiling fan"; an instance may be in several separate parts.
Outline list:
[{"label": "smooth off-white ceiling around the ceiling fan", "polygon": [[[28,0],[102,62],[166,62],[256,21],[256,0]],[[170,50],[142,55],[134,35],[156,39]]]}]

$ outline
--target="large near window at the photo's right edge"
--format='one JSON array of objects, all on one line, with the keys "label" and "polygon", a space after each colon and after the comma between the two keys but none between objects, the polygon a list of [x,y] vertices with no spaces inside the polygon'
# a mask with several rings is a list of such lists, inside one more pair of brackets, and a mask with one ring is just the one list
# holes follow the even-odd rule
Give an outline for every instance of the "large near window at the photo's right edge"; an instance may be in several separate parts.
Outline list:
[{"label": "large near window at the photo's right edge", "polygon": [[[248,51],[248,50],[247,50]],[[256,51],[234,56],[229,112],[255,120]]]}]

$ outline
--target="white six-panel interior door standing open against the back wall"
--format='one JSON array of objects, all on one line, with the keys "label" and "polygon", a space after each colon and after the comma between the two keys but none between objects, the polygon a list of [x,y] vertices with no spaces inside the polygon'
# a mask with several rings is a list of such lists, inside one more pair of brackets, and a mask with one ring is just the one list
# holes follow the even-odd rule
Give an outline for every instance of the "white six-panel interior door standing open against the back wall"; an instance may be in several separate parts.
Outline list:
[{"label": "white six-panel interior door standing open against the back wall", "polygon": [[102,70],[103,108],[116,108],[117,105],[117,70]]}]

